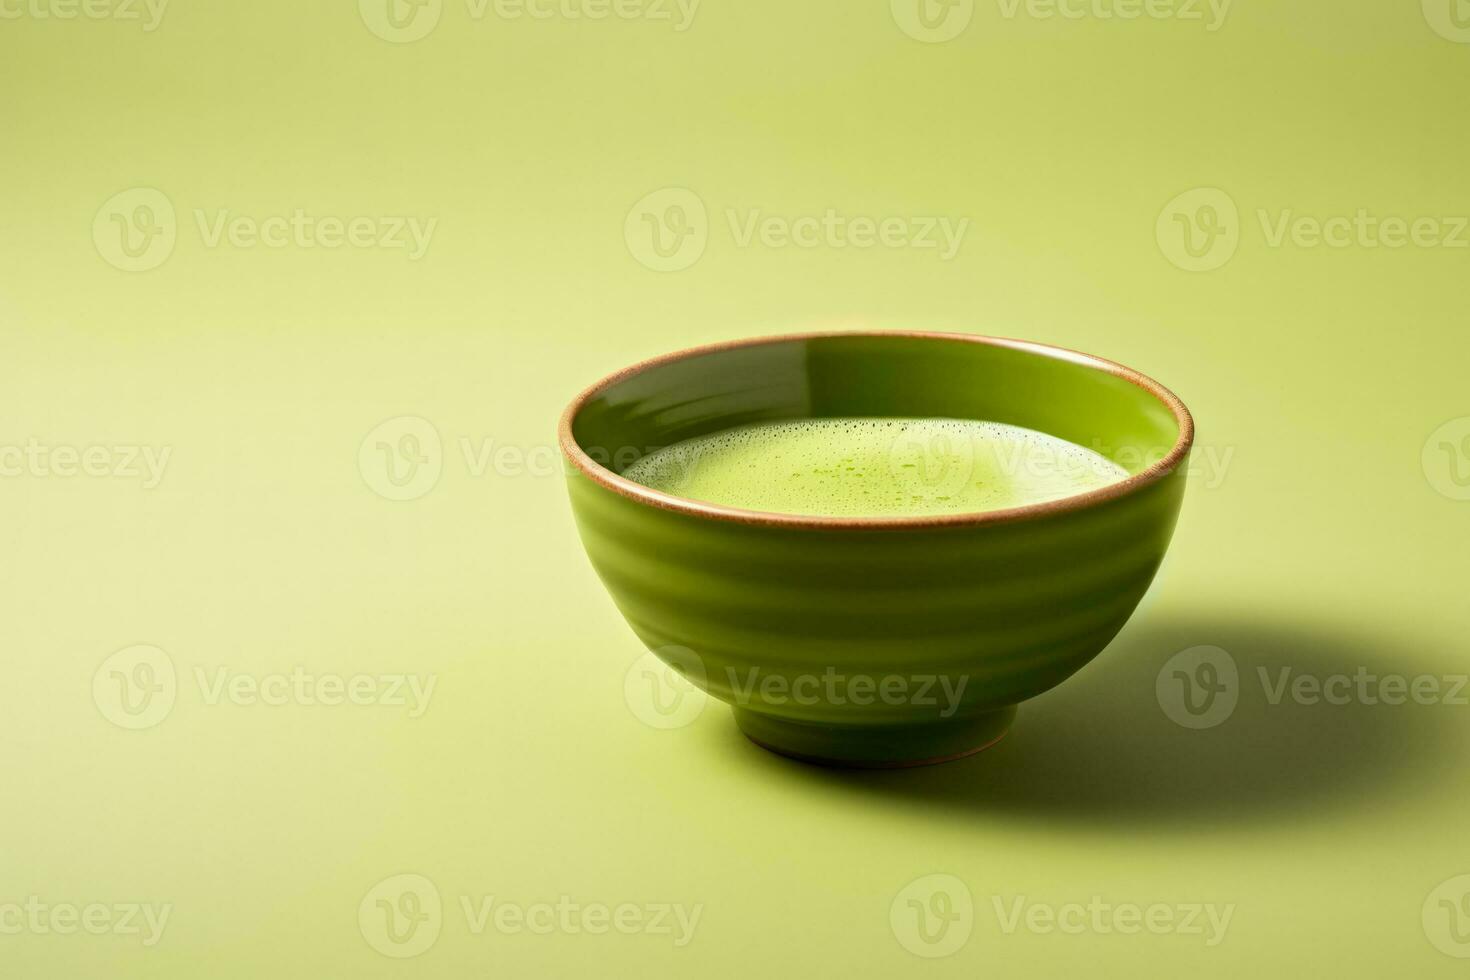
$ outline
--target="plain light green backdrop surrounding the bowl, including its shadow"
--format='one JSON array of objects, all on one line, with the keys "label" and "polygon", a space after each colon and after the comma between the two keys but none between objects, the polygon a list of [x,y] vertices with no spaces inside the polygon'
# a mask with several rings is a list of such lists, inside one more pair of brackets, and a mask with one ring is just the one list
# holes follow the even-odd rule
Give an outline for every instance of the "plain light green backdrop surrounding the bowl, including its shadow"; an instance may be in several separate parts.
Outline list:
[{"label": "plain light green backdrop surrounding the bowl, including its shadow", "polygon": [[[1470,502],[1449,467],[1470,457],[1421,450],[1470,416],[1470,250],[1273,247],[1258,217],[1470,215],[1470,44],[1449,0],[1427,3],[1438,32],[1405,0],[1236,0],[1214,31],[1204,4],[1122,21],[989,0],[939,44],[879,0],[704,0],[686,31],[445,0],[415,43],[345,1],[175,0],[153,31],[37,16],[68,9],[50,1],[0,19],[0,445],[171,457],[151,489],[0,479],[0,907],[172,915],[151,948],[0,934],[0,974],[1463,976],[1421,908],[1470,873],[1470,707],[1273,705],[1257,674],[1467,669]],[[123,272],[109,215],[96,241],[93,225],[140,187],[172,203],[176,245]],[[625,239],[660,188],[709,215],[678,272]],[[1155,234],[1192,188],[1239,216],[1208,272]],[[196,222],[294,209],[437,226],[413,262],[209,247]],[[741,247],[726,209],[970,225],[944,262]],[[1197,460],[1219,467],[1197,473],[1132,624],[994,751],[844,774],[761,752],[717,704],[644,724],[623,693],[641,649],[560,476],[516,460],[544,473],[564,401],[637,359],[857,323],[1122,360],[1185,398]],[[410,501],[359,466],[400,416],[441,439],[441,476]],[[476,475],[463,447],[485,441],[512,451]],[[125,730],[93,679],[135,644],[168,652],[179,692]],[[1207,730],[1170,721],[1154,688],[1197,645],[1241,671]],[[437,688],[410,718],[209,704],[196,682],[297,666]],[[357,920],[400,873],[445,905],[412,959]],[[931,873],[975,907],[969,940],[932,961],[889,924]],[[679,949],[476,936],[459,898],[484,895],[703,915]],[[1207,948],[1008,934],[992,905],[1094,895],[1235,912]]]}]

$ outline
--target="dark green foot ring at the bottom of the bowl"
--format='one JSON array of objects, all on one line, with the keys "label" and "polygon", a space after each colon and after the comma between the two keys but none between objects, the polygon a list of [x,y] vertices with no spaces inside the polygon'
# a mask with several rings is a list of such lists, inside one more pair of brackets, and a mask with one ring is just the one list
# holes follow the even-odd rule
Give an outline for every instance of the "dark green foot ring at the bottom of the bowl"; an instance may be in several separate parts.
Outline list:
[{"label": "dark green foot ring at the bottom of the bowl", "polygon": [[933,724],[808,724],[734,708],[735,724],[756,745],[814,765],[906,768],[975,755],[1001,741],[1016,708]]}]

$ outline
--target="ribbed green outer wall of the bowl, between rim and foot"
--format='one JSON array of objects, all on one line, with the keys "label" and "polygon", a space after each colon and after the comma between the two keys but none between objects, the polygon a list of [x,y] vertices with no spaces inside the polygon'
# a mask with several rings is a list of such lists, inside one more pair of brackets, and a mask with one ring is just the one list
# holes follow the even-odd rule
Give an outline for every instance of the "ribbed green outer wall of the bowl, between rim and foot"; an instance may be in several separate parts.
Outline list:
[{"label": "ribbed green outer wall of the bowl, between rim and foot", "polygon": [[[713,696],[789,721],[925,724],[945,705],[907,696],[925,677],[960,689],[944,717],[963,717],[1042,693],[1101,652],[1164,557],[1185,469],[1073,510],[903,529],[679,513],[575,467],[569,489],[623,617]],[[845,691],[866,676],[907,693],[791,696],[833,674]]]}]

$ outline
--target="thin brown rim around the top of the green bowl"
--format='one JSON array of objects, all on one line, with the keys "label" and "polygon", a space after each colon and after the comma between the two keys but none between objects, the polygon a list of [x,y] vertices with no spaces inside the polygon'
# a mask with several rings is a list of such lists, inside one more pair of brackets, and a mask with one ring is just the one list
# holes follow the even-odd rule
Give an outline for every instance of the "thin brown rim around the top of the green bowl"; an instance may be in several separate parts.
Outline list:
[{"label": "thin brown rim around the top of the green bowl", "polygon": [[[1125,480],[1108,483],[1107,486],[1088,491],[1085,494],[1075,494],[1072,497],[1047,501],[1044,504],[1026,504],[1023,507],[1007,507],[1003,510],[986,510],[969,514],[935,514],[917,517],[819,517],[806,514],[773,514],[761,510],[725,507],[723,504],[709,504],[704,501],[689,500],[686,497],[664,494],[613,473],[610,469],[584,453],[582,447],[578,445],[576,439],[572,436],[572,420],[576,419],[578,413],[582,411],[582,407],[588,401],[607,388],[628,381],[634,375],[641,375],[651,367],[659,367],[662,364],[669,364],[689,357],[700,357],[703,354],[717,354],[720,351],[738,350],[741,347],[788,344],[792,341],[838,336],[901,336],[951,341],[960,344],[989,344],[991,347],[1007,347],[1017,351],[1038,354],[1041,357],[1051,357],[1055,360],[1072,361],[1073,364],[1080,364],[1083,367],[1092,367],[1094,370],[1101,370],[1108,375],[1114,375],[1116,378],[1129,381],[1161,401],[1169,411],[1173,413],[1175,422],[1179,423],[1179,439],[1175,442],[1173,448],[1169,450],[1167,455]],[[1189,451],[1189,447],[1194,444],[1194,419],[1189,416],[1189,410],[1185,408],[1185,403],[1179,401],[1179,397],[1175,395],[1175,392],[1169,391],[1152,378],[1141,375],[1132,367],[1125,367],[1116,361],[1067,350],[1064,347],[1051,347],[1050,344],[1016,341],[1003,336],[944,334],[938,331],[829,331],[814,334],[781,334],[776,336],[754,336],[742,341],[725,341],[722,344],[704,344],[701,347],[689,347],[682,351],[673,351],[672,354],[650,357],[648,360],[639,361],[631,367],[625,367],[623,370],[603,378],[573,398],[572,404],[569,404],[566,411],[562,413],[562,423],[557,428],[557,435],[562,444],[562,453],[572,461],[573,466],[576,466],[578,470],[582,472],[584,476],[595,483],[600,483],[601,486],[606,486],[614,494],[620,494],[641,504],[648,504],[650,507],[672,510],[681,514],[688,514],[689,517],[728,520],[739,525],[760,525],[770,527],[810,527],[813,530],[911,530],[919,527],[972,527],[979,525],[1004,525],[1019,520],[1064,514],[1075,510],[1083,510],[1086,507],[1095,507],[1097,504],[1102,504],[1119,497],[1126,497],[1127,494],[1133,494],[1145,486],[1150,486],[1151,483],[1158,482],[1179,464],[1179,461]]]}]

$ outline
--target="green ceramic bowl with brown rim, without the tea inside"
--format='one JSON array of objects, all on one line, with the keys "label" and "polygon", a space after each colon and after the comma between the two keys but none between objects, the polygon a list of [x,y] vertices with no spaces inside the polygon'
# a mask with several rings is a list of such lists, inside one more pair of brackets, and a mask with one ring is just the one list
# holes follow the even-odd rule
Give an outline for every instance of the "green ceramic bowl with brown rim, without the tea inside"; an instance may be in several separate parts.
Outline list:
[{"label": "green ceramic bowl with brown rim, without the tea inside", "polygon": [[[798,517],[684,500],[620,473],[679,439],[773,419],[956,417],[1048,432],[1129,478],[941,517]],[[960,334],[816,334],[700,347],[582,392],[562,417],[576,526],[638,638],[807,761],[916,765],[1005,733],[1122,629],[1169,547],[1194,423],[1138,372]]]}]

